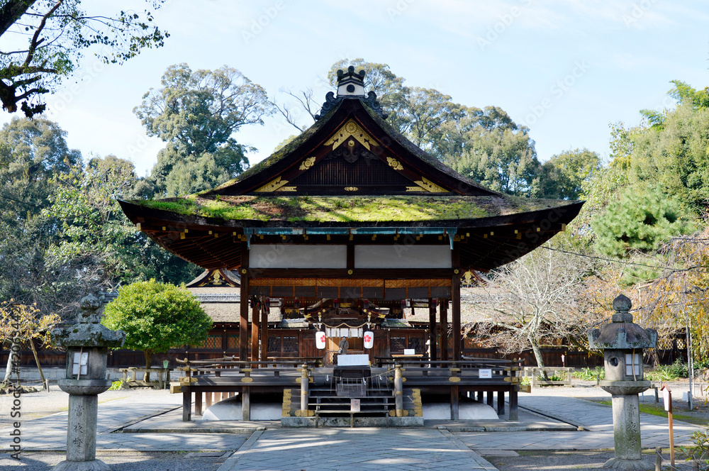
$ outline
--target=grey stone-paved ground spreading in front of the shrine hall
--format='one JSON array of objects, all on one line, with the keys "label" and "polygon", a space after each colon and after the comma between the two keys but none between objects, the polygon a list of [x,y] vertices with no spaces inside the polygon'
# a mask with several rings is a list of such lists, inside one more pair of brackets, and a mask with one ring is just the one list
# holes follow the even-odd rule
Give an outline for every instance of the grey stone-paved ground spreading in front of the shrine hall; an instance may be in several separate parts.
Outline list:
[{"label": "grey stone-paved ground spreading in front of the shrine hall", "polygon": [[[62,393],[63,394],[63,393]],[[230,452],[219,471],[245,470],[495,470],[476,453],[495,450],[594,450],[613,448],[613,416],[610,406],[585,401],[574,395],[608,399],[596,388],[540,389],[520,394],[520,422],[544,423],[542,431],[469,432],[476,423],[428,421],[425,428],[300,428],[283,429],[279,423],[197,421],[183,423],[182,396],[167,392],[131,392],[130,397],[99,404],[99,451]],[[29,397],[26,409],[31,412]],[[47,400],[49,400],[48,398]],[[66,400],[65,397],[62,397]],[[0,404],[1,405],[1,404]],[[56,409],[55,409],[56,410]],[[581,426],[566,430],[533,411]],[[5,414],[6,410],[1,411]],[[507,422],[501,421],[501,424]],[[23,451],[62,451],[66,448],[67,413],[40,419],[23,419]],[[555,428],[554,428],[555,427]],[[690,443],[699,426],[675,421],[676,445]],[[0,468],[9,449],[9,421],[0,421]],[[116,432],[123,430],[124,433]],[[130,431],[125,433],[125,431]],[[211,431],[212,433],[203,433]],[[224,433],[228,431],[228,433]],[[666,419],[641,414],[644,448],[667,448]],[[135,432],[135,433],[133,433]],[[140,433],[138,433],[140,432]],[[196,433],[202,432],[202,433]],[[218,464],[214,465],[213,471]],[[205,468],[206,469],[206,468]]]}]

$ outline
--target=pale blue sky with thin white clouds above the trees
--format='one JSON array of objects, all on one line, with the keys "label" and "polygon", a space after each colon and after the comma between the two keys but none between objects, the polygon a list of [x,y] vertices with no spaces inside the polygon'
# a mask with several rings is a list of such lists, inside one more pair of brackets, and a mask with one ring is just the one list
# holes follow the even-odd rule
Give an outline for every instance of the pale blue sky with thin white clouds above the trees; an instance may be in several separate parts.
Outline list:
[{"label": "pale blue sky with thin white clouds above the trees", "polygon": [[[69,145],[132,160],[141,175],[164,143],[132,110],[177,62],[235,67],[279,102],[281,87],[324,101],[325,74],[342,58],[383,62],[408,85],[500,106],[529,126],[540,160],[584,147],[607,157],[609,123],[672,106],[672,79],[709,85],[704,0],[172,0],[155,18],[171,34],[164,48],[122,66],[88,57],[84,78],[48,100]],[[254,163],[295,132],[277,115],[235,138],[259,150]]]}]

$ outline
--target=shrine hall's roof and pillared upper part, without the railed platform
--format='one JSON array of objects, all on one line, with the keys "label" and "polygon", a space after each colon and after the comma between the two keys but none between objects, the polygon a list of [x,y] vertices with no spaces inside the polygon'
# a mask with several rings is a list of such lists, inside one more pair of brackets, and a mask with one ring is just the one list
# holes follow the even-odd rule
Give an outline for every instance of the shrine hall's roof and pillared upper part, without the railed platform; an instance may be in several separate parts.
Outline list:
[{"label": "shrine hall's roof and pillared upper part, without the railed platform", "polygon": [[[416,305],[429,311],[432,345],[416,353],[461,360],[464,273],[529,253],[564,231],[583,202],[482,187],[395,131],[374,92],[364,93],[364,71],[337,76],[316,123],[247,172],[199,194],[121,201],[123,211],[179,257],[238,272],[240,360],[267,360],[273,299],[302,322],[302,357],[318,351],[319,330],[326,351],[345,334],[350,350],[383,356],[378,331]],[[374,333],[373,348],[362,331]]]}]

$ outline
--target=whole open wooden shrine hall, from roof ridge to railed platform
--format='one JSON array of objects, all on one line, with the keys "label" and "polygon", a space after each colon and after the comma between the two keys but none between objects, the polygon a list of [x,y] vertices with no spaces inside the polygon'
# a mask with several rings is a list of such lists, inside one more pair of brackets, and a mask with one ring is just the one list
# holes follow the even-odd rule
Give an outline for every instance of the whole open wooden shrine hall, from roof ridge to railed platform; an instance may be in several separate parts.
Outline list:
[{"label": "whole open wooden shrine hall, from roof ridge to railed platform", "polygon": [[[509,196],[454,172],[389,125],[374,92],[365,93],[364,75],[338,71],[337,93],[325,96],[316,123],[230,182],[121,201],[166,250],[240,275],[238,355],[183,361],[187,379],[176,392],[185,397],[184,418],[191,401],[199,415],[203,398],[209,406],[221,394],[241,398],[245,419],[257,397],[277,397],[284,417],[324,421],[327,401],[313,396],[320,386],[347,401],[401,394],[411,399],[410,416],[420,416],[427,397],[444,397],[456,418],[459,399],[484,401],[488,392],[491,404],[492,392],[506,393],[516,414],[514,365],[462,355],[461,279],[539,247],[583,201]],[[274,307],[298,332],[291,358],[269,356]],[[390,331],[406,325],[407,309],[428,312],[428,323],[408,326],[418,340],[393,355]],[[396,368],[403,392],[391,387]],[[289,394],[305,387],[301,374],[312,383],[309,399],[294,404]],[[383,402],[391,404],[375,408],[383,415],[407,415],[401,401]]]}]

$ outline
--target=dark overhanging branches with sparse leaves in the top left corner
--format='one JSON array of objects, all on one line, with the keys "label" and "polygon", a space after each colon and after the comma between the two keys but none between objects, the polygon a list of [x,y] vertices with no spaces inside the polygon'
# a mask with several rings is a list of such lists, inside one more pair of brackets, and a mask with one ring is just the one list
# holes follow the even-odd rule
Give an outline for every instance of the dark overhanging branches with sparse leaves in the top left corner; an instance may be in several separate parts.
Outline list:
[{"label": "dark overhanging branches with sparse leaves in the top left corner", "polygon": [[[159,9],[164,0],[145,0]],[[160,47],[168,34],[152,23],[152,12],[106,13],[108,2],[84,8],[81,0],[0,2],[0,101],[28,117],[45,110],[43,95],[77,70],[86,52],[121,64],[143,48]],[[116,9],[118,10],[118,9]]]}]

